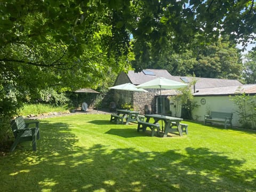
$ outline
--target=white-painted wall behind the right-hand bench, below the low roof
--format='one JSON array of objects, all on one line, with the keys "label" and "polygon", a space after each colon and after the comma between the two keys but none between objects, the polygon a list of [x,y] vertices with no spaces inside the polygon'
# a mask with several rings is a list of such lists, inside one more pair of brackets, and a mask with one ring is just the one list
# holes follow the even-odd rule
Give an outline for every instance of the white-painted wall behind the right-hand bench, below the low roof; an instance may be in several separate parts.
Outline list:
[{"label": "white-painted wall behind the right-hand bench, below the low roof", "polygon": [[[201,99],[205,99],[205,105],[201,104]],[[233,113],[233,126],[240,126],[238,123],[238,115],[236,114],[237,106],[231,101],[232,97],[229,96],[214,96],[214,97],[194,97],[199,107],[195,108],[192,113],[193,119],[197,121],[204,121],[204,115],[208,114],[209,111],[221,111]]]}]

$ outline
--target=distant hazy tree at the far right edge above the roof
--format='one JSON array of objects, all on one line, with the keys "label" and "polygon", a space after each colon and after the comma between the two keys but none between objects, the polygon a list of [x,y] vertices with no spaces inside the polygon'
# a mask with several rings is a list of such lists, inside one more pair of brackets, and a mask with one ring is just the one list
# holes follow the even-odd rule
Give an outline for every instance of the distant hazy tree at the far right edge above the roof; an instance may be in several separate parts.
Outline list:
[{"label": "distant hazy tree at the far right edge above the roof", "polygon": [[256,83],[256,51],[251,51],[244,58],[243,78],[247,84]]}]

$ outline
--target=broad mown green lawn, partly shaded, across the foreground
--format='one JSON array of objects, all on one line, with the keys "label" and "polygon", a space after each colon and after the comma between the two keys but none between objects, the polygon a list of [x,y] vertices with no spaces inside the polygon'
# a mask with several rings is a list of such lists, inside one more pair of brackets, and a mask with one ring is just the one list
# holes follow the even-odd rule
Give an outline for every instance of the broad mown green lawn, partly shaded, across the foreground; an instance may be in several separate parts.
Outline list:
[{"label": "broad mown green lawn, partly shaded, across the foreground", "polygon": [[185,122],[150,137],[110,115],[43,119],[31,142],[0,157],[1,191],[256,191],[256,133]]}]

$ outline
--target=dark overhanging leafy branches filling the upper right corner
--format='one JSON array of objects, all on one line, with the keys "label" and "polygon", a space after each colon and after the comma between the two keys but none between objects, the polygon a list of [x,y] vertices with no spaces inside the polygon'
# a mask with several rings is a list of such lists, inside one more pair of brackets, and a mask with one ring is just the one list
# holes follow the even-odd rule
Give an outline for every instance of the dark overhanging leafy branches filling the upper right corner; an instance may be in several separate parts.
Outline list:
[{"label": "dark overhanging leafy branches filling the upper right corner", "polygon": [[[172,1],[171,1],[172,2]],[[144,1],[132,31],[137,70],[154,66],[162,52],[183,52],[211,45],[220,36],[233,44],[253,41],[255,34],[254,1]],[[160,56],[160,57],[159,57]]]}]

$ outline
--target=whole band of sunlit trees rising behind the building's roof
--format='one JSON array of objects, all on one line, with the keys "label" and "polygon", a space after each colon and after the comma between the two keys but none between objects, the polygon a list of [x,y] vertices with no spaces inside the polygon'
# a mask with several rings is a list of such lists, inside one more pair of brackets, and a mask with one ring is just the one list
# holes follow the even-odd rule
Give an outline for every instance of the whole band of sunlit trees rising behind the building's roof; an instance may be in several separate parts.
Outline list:
[{"label": "whole band of sunlit trees rising behind the building's roof", "polygon": [[208,77],[208,78],[241,78],[242,62],[238,49],[220,38],[218,42],[204,47],[175,53],[166,50],[158,61],[158,68],[165,68],[172,75]]}]

